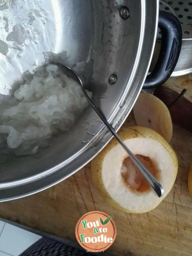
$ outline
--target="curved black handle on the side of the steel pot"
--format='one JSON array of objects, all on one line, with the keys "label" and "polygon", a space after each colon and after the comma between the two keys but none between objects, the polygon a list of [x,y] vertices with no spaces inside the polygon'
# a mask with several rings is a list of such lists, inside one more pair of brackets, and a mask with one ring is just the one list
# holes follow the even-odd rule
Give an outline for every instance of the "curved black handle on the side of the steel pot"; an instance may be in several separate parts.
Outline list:
[{"label": "curved black handle on the side of the steel pot", "polygon": [[179,20],[172,13],[159,11],[158,27],[162,33],[161,50],[143,89],[164,84],[175,69],[181,51],[182,29]]}]

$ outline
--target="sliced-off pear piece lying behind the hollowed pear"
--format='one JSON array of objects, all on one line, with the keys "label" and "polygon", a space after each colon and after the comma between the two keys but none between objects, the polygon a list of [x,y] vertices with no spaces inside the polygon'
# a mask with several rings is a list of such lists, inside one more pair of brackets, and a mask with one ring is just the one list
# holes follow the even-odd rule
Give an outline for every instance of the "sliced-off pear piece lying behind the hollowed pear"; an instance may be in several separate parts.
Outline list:
[{"label": "sliced-off pear piece lying behind the hollowed pear", "polygon": [[170,142],[173,133],[172,119],[163,101],[142,92],[133,107],[133,113],[137,125],[151,128]]}]

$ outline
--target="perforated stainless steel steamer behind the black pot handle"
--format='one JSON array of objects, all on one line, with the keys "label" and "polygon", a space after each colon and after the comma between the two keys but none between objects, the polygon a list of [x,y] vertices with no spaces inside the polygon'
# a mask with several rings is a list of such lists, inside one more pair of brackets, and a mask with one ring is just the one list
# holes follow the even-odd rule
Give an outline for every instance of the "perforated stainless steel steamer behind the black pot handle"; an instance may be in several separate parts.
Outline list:
[{"label": "perforated stainless steel steamer behind the black pot handle", "polygon": [[[183,40],[179,60],[172,76],[182,76],[192,72],[192,0],[163,0],[159,2],[159,9],[173,13],[181,23]],[[150,71],[155,66],[161,47],[161,32],[157,31],[157,42]]]}]

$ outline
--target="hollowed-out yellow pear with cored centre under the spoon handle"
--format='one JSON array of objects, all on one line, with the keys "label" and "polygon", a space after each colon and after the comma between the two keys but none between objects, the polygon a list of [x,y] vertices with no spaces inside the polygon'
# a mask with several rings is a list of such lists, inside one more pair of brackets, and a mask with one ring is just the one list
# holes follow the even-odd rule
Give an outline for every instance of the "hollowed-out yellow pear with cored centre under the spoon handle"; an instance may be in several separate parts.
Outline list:
[{"label": "hollowed-out yellow pear with cored centre under the spoon handle", "polygon": [[164,196],[156,196],[115,139],[92,160],[92,180],[101,195],[114,207],[131,213],[148,212],[170,192],[178,171],[177,156],[167,141],[149,128],[122,128],[118,134],[160,181]]}]

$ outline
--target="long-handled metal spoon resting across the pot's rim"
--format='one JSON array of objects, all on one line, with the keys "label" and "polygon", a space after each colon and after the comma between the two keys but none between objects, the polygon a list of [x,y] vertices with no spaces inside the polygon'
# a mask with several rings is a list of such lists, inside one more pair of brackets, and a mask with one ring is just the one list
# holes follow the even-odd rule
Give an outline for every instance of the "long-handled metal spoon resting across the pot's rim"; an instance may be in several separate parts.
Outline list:
[{"label": "long-handled metal spoon resting across the pot's rim", "polygon": [[143,176],[145,177],[145,179],[147,180],[148,184],[150,185],[150,187],[154,190],[154,192],[156,193],[156,195],[158,197],[163,196],[164,194],[164,188],[162,187],[162,185],[158,182],[158,180],[148,171],[148,169],[140,162],[140,160],[133,155],[133,153],[130,151],[130,149],[124,144],[124,142],[121,140],[121,138],[118,136],[118,134],[116,133],[116,131],[113,129],[113,127],[111,126],[111,124],[108,123],[106,117],[104,116],[104,114],[102,113],[102,111],[100,110],[100,108],[98,108],[93,101],[90,99],[90,97],[88,96],[83,82],[81,80],[81,78],[77,75],[77,73],[69,68],[68,66],[61,64],[61,63],[57,63],[60,64],[61,66],[64,66],[65,68],[67,68],[69,71],[71,71],[77,78],[77,81],[79,82],[79,84],[81,85],[81,89],[84,93],[84,96],[86,97],[86,99],[89,101],[90,105],[92,106],[92,108],[95,110],[95,112],[97,113],[97,115],[100,117],[100,119],[103,121],[103,123],[107,126],[108,130],[113,134],[113,136],[116,138],[116,140],[121,144],[121,146],[124,148],[124,150],[127,152],[127,154],[130,156],[130,158],[132,159],[133,163],[137,166],[137,168],[140,170],[140,172],[143,174]]}]

